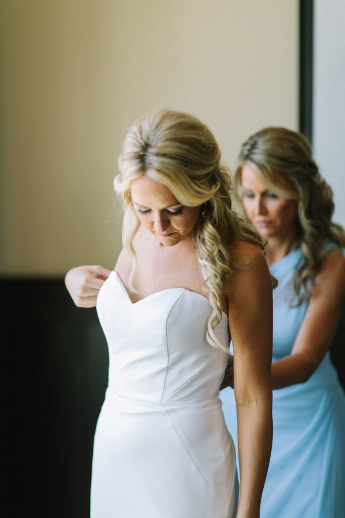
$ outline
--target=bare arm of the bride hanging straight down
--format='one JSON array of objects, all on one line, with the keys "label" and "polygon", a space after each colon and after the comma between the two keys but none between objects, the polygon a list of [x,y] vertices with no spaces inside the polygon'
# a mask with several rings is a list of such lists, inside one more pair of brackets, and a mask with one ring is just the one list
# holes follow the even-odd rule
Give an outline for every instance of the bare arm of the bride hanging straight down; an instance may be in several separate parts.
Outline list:
[{"label": "bare arm of the bride hanging straight down", "polygon": [[[245,259],[244,259],[245,257]],[[241,243],[226,284],[234,350],[241,491],[237,518],[258,518],[272,447],[272,281],[263,254]]]}]

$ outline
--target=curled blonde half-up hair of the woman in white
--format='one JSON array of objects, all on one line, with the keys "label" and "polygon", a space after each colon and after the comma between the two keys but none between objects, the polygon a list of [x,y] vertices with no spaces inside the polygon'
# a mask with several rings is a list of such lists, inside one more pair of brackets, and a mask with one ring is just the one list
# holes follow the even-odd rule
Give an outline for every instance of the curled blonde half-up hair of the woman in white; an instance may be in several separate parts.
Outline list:
[{"label": "curled blonde half-up hair of the woman in white", "polygon": [[123,198],[123,243],[133,260],[129,277],[132,291],[137,257],[133,238],[140,222],[134,210],[130,182],[147,175],[166,185],[179,203],[203,205],[193,229],[192,238],[204,288],[212,312],[207,322],[207,341],[213,347],[229,352],[215,335],[221,321],[222,287],[231,273],[230,250],[237,239],[264,246],[253,227],[231,210],[231,176],[220,163],[220,150],[208,127],[187,113],[167,109],[156,110],[139,118],[129,127],[118,159],[120,174],[114,188]]}]

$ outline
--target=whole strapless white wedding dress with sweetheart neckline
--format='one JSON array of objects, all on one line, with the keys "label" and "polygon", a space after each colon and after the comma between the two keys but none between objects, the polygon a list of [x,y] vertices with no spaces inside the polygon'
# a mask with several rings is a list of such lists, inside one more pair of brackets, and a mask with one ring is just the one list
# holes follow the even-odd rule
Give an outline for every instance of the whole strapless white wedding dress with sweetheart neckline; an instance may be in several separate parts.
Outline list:
[{"label": "whole strapless white wedding dress with sweetheart neckline", "polygon": [[[181,287],[133,304],[113,271],[97,311],[110,365],[92,518],[234,518],[235,451],[218,399],[228,356],[206,342],[208,299]],[[225,313],[216,333],[229,343]]]}]

